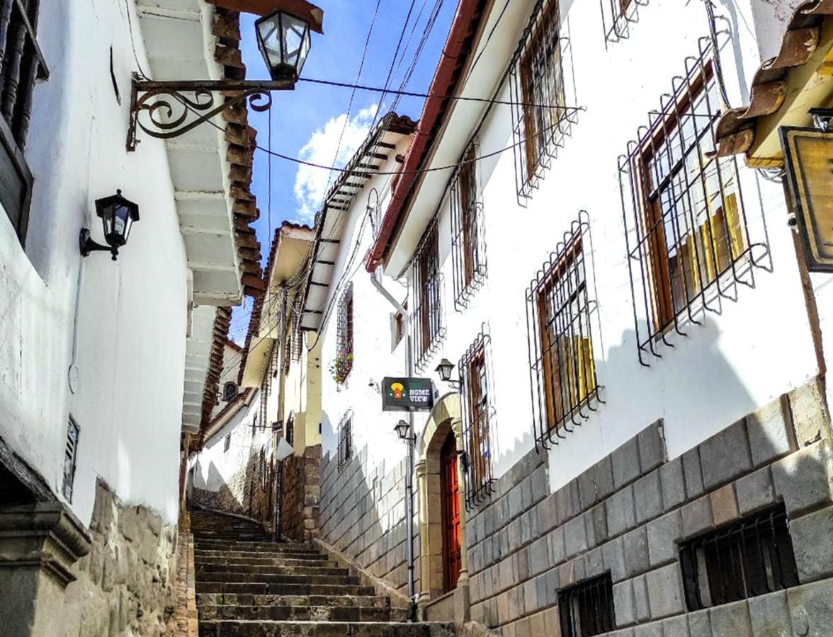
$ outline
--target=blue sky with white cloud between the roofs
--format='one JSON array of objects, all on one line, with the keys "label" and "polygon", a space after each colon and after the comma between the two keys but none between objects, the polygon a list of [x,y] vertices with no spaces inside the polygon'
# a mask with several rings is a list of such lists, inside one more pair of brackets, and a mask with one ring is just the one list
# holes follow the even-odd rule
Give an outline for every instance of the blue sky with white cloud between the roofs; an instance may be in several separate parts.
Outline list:
[{"label": "blue sky with white cloud between the roofs", "polygon": [[[312,34],[312,49],[302,77],[355,83],[359,78],[362,52],[377,0],[321,0],[317,4],[324,10],[324,35]],[[394,73],[391,82],[391,87],[399,88],[407,67],[414,60],[416,47],[426,32],[428,19],[435,7],[439,7],[436,22],[407,83],[409,91],[427,92],[442,46],[446,42],[456,4],[456,0],[414,0],[412,15],[406,27],[406,17],[412,2],[379,0],[379,12],[359,82],[372,87],[385,85],[397,42],[403,27],[406,27],[402,38],[404,56],[401,50],[395,66],[398,71]],[[243,61],[248,67],[248,79],[264,79],[268,74],[257,49],[254,20],[255,17],[246,14],[241,19]],[[409,37],[411,42],[406,49]],[[391,110],[394,99],[388,95],[380,105],[381,93],[357,91],[351,107],[350,97],[349,88],[306,82],[298,82],[294,92],[274,93],[271,111],[272,150],[324,165],[345,164],[366,137],[374,117],[381,117]],[[402,97],[396,110],[400,115],[416,119],[421,108],[421,98]],[[269,146],[269,117],[269,113],[250,113],[249,122],[257,128],[257,143],[261,147]],[[342,144],[338,147],[340,137]],[[283,220],[302,221],[312,225],[312,216],[321,204],[330,179],[328,171],[301,167],[294,162],[273,157],[270,214],[268,175],[267,154],[257,152],[252,192],[257,196],[261,217],[253,226],[261,242],[264,267],[272,241],[270,227],[274,231]],[[333,174],[332,179],[335,178]],[[239,343],[246,337],[251,309],[252,299],[247,298],[244,306],[234,310],[229,336]]]}]

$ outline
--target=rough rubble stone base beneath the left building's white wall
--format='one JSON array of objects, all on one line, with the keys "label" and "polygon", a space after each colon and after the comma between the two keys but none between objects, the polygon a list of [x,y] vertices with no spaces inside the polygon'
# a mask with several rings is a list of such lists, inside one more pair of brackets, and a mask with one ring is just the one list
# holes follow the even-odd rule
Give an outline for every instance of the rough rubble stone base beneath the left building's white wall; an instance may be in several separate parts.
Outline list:
[{"label": "rough rubble stone base beneath the left building's white wall", "polygon": [[[122,505],[101,480],[92,547],[72,567],[61,637],[159,637],[175,607],[177,527],[144,506]],[[0,630],[2,632],[2,630]]]}]

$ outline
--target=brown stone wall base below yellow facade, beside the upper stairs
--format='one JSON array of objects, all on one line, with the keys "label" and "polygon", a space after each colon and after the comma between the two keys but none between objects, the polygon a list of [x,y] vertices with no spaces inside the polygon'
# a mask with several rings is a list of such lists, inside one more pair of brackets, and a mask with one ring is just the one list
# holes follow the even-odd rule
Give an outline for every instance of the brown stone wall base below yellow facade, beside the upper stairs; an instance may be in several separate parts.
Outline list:
[{"label": "brown stone wall base below yellow facade, beside the upper stairs", "polygon": [[297,542],[320,536],[321,445],[283,461],[281,533]]}]

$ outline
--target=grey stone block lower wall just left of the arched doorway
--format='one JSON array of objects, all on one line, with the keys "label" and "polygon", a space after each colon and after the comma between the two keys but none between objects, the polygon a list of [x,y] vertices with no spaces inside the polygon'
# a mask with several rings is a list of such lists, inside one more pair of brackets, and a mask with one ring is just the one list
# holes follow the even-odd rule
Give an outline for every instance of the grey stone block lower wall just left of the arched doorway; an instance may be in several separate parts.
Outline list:
[{"label": "grey stone block lower wall just left of the arched doorway", "polygon": [[[338,469],[327,454],[322,460],[321,539],[363,569],[407,593],[405,470],[407,459],[367,469],[367,447]],[[419,519],[414,497],[414,520]],[[414,559],[419,560],[419,531],[414,525]],[[419,590],[416,569],[416,590]]]}]

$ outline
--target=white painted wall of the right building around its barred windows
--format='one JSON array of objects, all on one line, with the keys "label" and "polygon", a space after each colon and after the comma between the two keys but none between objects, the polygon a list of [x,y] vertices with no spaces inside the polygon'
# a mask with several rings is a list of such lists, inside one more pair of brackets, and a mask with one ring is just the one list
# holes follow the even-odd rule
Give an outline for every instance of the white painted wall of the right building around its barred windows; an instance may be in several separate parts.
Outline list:
[{"label": "white painted wall of the right building around its barred windows", "polygon": [[[515,2],[517,10],[521,2]],[[525,2],[528,11],[534,2]],[[719,9],[720,10],[720,9]],[[751,9],[733,2],[733,44],[721,52],[732,106],[746,101],[745,86],[761,62]],[[758,28],[768,28],[758,17]],[[526,18],[516,23],[516,38]],[[777,23],[771,25],[778,27]],[[783,27],[780,27],[783,28]],[[511,152],[481,162],[489,273],[486,286],[466,311],[453,310],[447,203],[441,212],[441,260],[446,278],[444,346],[426,368],[442,356],[457,361],[486,321],[491,332],[496,426],[494,469],[502,475],[531,450],[533,433],[526,341],[526,286],[548,258],[579,210],[591,217],[591,259],[598,312],[593,344],[601,405],[560,445],[549,452],[551,487],[565,484],[616,449],[657,418],[665,419],[671,457],[680,455],[776,396],[801,386],[817,373],[804,310],[781,187],[743,167],[741,182],[753,241],[767,241],[773,271],[755,271],[754,289],[742,287],[736,302],[725,301],[721,315],[707,313],[703,326],[687,326],[687,338],[661,346],[661,359],[641,367],[636,356],[633,298],[626,263],[617,157],[648,122],[648,112],[670,92],[671,79],[684,72],[686,57],[698,52],[697,38],[708,35],[702,2],[651,0],[641,7],[631,37],[605,46],[597,2],[573,2],[566,16],[572,46],[577,105],[586,107],[571,138],[526,207],[516,201]],[[500,42],[500,37],[497,37]],[[497,50],[497,49],[495,49]],[[741,56],[742,72],[736,64]],[[503,69],[507,58],[483,56],[483,64]],[[565,69],[569,73],[569,69]],[[743,84],[744,87],[741,87]],[[491,95],[493,85],[470,87]],[[509,99],[505,87],[501,97]],[[481,154],[508,147],[509,107],[495,107],[479,137]],[[457,107],[447,127],[451,150],[442,161],[460,157],[476,118]],[[467,131],[467,132],[466,132]],[[442,163],[442,161],[438,162]],[[423,188],[412,215],[419,228],[400,237],[397,249],[410,251],[431,216],[439,193]],[[402,255],[397,257],[402,263]],[[828,319],[828,321],[830,321]],[[831,322],[828,322],[831,325]],[[361,351],[363,345],[357,345]],[[441,389],[442,391],[442,389]],[[424,417],[424,416],[423,416]],[[363,425],[362,425],[363,426]],[[417,427],[417,429],[419,429]],[[366,434],[367,435],[367,434]]]}]

